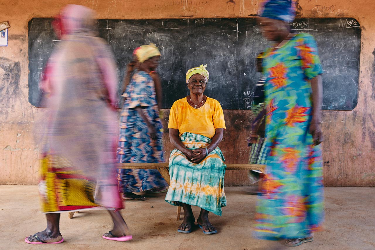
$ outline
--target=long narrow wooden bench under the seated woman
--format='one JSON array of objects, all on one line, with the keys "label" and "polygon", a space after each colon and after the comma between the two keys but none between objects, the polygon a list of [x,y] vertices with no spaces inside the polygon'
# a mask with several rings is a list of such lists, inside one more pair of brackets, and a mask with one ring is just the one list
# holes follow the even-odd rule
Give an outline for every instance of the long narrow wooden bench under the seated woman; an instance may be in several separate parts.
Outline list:
[{"label": "long narrow wooden bench under the seated woman", "polygon": [[[264,172],[265,165],[258,164],[226,164],[226,170],[260,170]],[[120,169],[157,169],[169,185],[168,163],[121,163]],[[69,212],[69,218],[73,218],[74,212]],[[177,220],[180,220],[181,207],[177,207]]]}]

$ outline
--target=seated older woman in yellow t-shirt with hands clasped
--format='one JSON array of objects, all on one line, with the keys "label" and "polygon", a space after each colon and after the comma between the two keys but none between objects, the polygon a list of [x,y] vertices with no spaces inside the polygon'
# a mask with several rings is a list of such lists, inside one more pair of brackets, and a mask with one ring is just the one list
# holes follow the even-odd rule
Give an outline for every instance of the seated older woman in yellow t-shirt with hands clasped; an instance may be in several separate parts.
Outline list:
[{"label": "seated older woman in yellow t-shirt with hands clasped", "polygon": [[217,147],[225,129],[223,110],[215,99],[203,95],[209,77],[207,65],[189,69],[190,95],[174,102],[169,114],[169,138],[175,149],[169,158],[171,182],[165,201],[184,209],[178,232],[190,233],[195,223],[191,206],[199,206],[196,220],[203,233],[216,233],[208,212],[221,215],[226,206],[224,157]]}]

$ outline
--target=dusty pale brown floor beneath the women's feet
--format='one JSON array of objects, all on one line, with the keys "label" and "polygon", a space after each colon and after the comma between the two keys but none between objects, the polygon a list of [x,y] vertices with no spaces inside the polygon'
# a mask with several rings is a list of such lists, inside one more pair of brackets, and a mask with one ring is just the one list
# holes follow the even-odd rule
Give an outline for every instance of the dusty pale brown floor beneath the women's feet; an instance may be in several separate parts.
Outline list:
[{"label": "dusty pale brown floor beneath the women's feet", "polygon": [[[177,207],[164,201],[164,194],[148,196],[143,202],[127,202],[122,211],[133,240],[114,242],[102,238],[111,229],[104,210],[61,215],[60,230],[65,238],[58,245],[29,245],[24,238],[45,229],[45,217],[39,212],[36,186],[0,186],[0,249],[290,249],[282,241],[262,241],[252,237],[256,196],[250,187],[225,188],[228,206],[223,215],[211,215],[217,229],[204,235],[178,233],[182,220],[176,220]],[[375,249],[375,188],[326,188],[326,222],[314,241],[297,249]],[[199,209],[193,210],[196,215]]]}]

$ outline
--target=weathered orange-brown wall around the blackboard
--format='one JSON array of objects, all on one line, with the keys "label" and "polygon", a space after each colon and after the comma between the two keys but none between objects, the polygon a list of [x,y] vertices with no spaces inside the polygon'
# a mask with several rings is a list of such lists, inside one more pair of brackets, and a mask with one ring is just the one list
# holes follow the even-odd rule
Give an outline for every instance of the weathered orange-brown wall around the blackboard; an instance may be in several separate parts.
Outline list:
[{"label": "weathered orange-brown wall around the blackboard", "polygon": [[[53,17],[67,3],[88,6],[98,18],[219,18],[257,14],[258,0],[0,0],[0,21],[9,21],[9,45],[0,47],[0,184],[36,184],[38,146],[33,124],[40,113],[28,102],[28,21]],[[350,17],[362,27],[358,105],[323,111],[324,177],[328,186],[375,186],[375,2],[297,0],[300,17]],[[249,111],[225,110],[228,129],[220,145],[229,163],[247,163]],[[168,110],[167,112],[168,113]],[[166,121],[164,121],[166,124]],[[238,140],[233,140],[238,138]],[[166,152],[171,150],[165,136]],[[228,171],[226,185],[245,185],[246,172]]]}]

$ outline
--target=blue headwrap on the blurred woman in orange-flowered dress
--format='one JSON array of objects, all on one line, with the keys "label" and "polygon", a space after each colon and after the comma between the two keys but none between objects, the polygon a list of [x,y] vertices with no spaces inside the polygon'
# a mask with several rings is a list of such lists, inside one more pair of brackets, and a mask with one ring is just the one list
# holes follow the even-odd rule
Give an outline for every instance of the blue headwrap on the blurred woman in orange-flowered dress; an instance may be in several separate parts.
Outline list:
[{"label": "blue headwrap on the blurred woman in orange-flowered dress", "polygon": [[260,16],[291,22],[296,17],[296,3],[294,0],[268,0],[264,2]]}]

